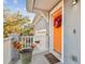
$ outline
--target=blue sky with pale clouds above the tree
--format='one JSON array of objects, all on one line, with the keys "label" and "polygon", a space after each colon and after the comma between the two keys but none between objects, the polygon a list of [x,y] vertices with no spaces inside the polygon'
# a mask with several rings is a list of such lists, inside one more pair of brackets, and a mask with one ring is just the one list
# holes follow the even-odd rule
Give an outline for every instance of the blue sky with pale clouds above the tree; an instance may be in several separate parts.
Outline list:
[{"label": "blue sky with pale clouds above the tree", "polygon": [[19,11],[23,15],[29,16],[31,21],[36,15],[26,11],[26,0],[3,0],[3,8],[9,8],[12,12]]}]

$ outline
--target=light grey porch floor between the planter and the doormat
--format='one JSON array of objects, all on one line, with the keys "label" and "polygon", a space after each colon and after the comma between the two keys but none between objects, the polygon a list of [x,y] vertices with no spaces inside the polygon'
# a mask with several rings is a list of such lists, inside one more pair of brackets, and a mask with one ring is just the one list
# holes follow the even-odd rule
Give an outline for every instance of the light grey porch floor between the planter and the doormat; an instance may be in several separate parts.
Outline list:
[{"label": "light grey porch floor between the planter and the doormat", "polygon": [[[30,64],[49,64],[49,62],[44,56],[45,53],[47,53],[47,52],[33,55]],[[22,64],[20,60],[16,64]],[[56,64],[61,64],[61,63],[59,62]]]}]

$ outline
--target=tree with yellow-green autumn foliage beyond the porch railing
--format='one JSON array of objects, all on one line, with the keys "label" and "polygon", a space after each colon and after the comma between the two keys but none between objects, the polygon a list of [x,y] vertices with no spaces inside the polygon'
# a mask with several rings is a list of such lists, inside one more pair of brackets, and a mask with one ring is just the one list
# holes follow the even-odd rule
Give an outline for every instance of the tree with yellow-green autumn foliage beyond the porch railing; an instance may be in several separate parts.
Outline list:
[{"label": "tree with yellow-green autumn foliage beyond the porch railing", "polygon": [[9,34],[12,34],[13,33],[12,30],[14,30],[17,34],[23,33],[25,29],[22,28],[22,25],[30,22],[29,17],[27,18],[27,17],[22,16],[22,14],[19,12],[11,15],[9,17],[5,17],[4,21],[5,21],[3,23],[3,28],[4,28],[3,35],[4,35],[4,37],[8,37]]}]

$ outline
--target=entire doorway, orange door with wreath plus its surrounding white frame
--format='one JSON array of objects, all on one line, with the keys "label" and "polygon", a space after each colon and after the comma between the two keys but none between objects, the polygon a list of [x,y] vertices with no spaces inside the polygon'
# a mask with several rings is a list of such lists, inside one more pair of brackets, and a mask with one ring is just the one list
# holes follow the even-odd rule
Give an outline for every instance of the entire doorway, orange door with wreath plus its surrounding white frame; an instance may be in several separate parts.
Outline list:
[{"label": "entire doorway, orange door with wreath plus its surrounding white frame", "polygon": [[63,62],[63,1],[49,12],[49,51]]}]

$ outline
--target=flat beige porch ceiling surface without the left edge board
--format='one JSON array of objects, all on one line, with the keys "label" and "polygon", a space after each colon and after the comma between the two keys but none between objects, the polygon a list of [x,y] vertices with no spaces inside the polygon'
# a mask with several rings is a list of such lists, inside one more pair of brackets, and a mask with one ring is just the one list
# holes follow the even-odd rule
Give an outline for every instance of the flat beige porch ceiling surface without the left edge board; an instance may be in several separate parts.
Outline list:
[{"label": "flat beige porch ceiling surface without the left edge board", "polygon": [[59,0],[34,0],[34,9],[49,11]]}]

